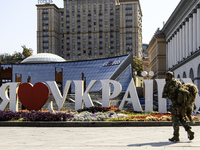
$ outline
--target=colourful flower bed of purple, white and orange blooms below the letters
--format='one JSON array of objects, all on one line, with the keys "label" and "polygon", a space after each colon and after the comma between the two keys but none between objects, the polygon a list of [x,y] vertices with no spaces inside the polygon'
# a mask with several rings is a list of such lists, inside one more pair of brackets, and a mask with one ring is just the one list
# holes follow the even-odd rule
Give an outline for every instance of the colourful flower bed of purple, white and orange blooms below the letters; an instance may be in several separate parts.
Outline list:
[{"label": "colourful flower bed of purple, white and orange blooms below the letters", "polygon": [[[200,116],[193,116],[193,119],[200,121]],[[171,121],[171,113],[138,113],[133,110],[118,111],[99,107],[54,113],[0,111],[0,121]]]}]

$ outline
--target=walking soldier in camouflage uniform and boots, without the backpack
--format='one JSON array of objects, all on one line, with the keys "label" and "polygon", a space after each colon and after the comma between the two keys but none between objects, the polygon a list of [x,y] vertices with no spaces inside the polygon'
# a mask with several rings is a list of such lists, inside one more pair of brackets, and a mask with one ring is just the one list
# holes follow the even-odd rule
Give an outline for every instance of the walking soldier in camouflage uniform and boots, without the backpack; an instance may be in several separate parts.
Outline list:
[{"label": "walking soldier in camouflage uniform and boots, without the backpack", "polygon": [[182,83],[173,77],[173,73],[166,72],[166,84],[163,89],[163,98],[169,98],[172,101],[172,125],[174,128],[174,136],[169,141],[180,141],[179,139],[179,121],[188,133],[189,140],[194,139],[194,132],[186,122],[186,115],[182,113],[182,104],[178,102],[179,90],[182,88]]}]

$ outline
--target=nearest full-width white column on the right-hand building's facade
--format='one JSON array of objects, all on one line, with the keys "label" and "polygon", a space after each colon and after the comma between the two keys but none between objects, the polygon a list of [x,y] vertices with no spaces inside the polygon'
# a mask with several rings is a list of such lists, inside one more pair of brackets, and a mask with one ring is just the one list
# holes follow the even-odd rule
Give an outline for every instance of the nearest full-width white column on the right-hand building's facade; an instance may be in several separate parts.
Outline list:
[{"label": "nearest full-width white column on the right-hand building's facade", "polygon": [[197,49],[197,10],[193,12],[193,47],[192,51],[195,52]]}]

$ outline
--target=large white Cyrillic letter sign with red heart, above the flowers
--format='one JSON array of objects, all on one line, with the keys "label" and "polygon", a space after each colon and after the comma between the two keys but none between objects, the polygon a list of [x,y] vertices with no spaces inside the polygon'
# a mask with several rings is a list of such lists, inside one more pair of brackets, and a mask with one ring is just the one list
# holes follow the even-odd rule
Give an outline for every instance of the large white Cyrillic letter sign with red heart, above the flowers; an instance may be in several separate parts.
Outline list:
[{"label": "large white Cyrillic letter sign with red heart, above the flowers", "polygon": [[[192,83],[190,78],[182,79],[185,83]],[[65,83],[63,94],[61,94],[55,81],[47,81],[45,83],[38,82],[35,85],[30,83],[20,84],[18,82],[5,83],[0,87],[0,97],[3,100],[0,104],[0,110],[5,110],[8,106],[11,111],[18,111],[18,99],[28,110],[39,110],[46,103],[49,97],[49,90],[51,90],[55,102],[58,106],[58,111],[62,110],[66,100],[71,82],[75,85],[75,110],[82,109],[83,102],[86,107],[94,106],[90,97],[90,90],[95,85],[97,80],[91,80],[88,87],[84,91],[84,82],[82,80],[68,80]],[[102,84],[102,107],[110,106],[110,99],[117,97],[122,90],[122,86],[115,80],[100,80]],[[158,89],[158,111],[160,113],[167,112],[166,99],[162,98],[162,90],[165,85],[164,79],[156,79]],[[153,111],[153,80],[144,80],[145,83],[145,111]],[[113,85],[113,92],[111,93],[111,86]],[[8,96],[9,89],[9,96]],[[140,101],[135,88],[134,80],[132,79],[122,98],[119,110],[122,110],[125,102],[131,102],[133,109],[142,112]],[[53,112],[54,108],[50,102],[48,108]],[[196,111],[200,108],[200,97],[196,98]]]}]

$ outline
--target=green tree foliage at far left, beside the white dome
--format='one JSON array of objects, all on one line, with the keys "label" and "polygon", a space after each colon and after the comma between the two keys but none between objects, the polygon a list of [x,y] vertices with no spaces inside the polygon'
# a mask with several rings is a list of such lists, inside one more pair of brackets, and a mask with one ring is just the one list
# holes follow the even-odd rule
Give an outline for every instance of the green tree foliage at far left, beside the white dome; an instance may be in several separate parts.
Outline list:
[{"label": "green tree foliage at far left, beside the white dome", "polygon": [[1,63],[19,63],[23,59],[33,54],[33,50],[31,48],[27,48],[25,45],[23,45],[22,48],[23,48],[22,53],[15,51],[14,54],[12,55],[8,53],[1,54],[0,55]]}]

